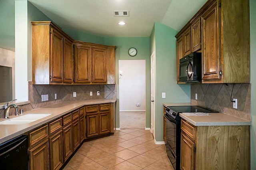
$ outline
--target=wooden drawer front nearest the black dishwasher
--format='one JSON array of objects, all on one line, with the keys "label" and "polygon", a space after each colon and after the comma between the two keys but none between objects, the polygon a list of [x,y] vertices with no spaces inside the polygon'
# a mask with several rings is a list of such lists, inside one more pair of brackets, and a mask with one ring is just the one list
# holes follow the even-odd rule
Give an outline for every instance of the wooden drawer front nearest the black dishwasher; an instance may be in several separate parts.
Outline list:
[{"label": "wooden drawer front nearest the black dishwasher", "polygon": [[37,144],[40,140],[48,137],[48,125],[40,127],[30,133],[28,133],[29,146]]}]

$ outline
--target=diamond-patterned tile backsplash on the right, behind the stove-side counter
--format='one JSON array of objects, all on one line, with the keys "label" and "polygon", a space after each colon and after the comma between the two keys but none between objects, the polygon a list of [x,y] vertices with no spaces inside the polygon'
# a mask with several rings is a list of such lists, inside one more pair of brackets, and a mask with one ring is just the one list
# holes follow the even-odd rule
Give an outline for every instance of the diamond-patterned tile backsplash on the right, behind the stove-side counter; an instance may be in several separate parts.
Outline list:
[{"label": "diamond-patterned tile backsplash on the right, behind the stove-side counter", "polygon": [[[198,94],[198,100],[195,100],[195,93]],[[230,101],[231,93],[232,99],[238,99],[237,109],[233,109],[233,103]],[[250,101],[250,83],[191,85],[191,103],[248,121],[251,119]]]}]

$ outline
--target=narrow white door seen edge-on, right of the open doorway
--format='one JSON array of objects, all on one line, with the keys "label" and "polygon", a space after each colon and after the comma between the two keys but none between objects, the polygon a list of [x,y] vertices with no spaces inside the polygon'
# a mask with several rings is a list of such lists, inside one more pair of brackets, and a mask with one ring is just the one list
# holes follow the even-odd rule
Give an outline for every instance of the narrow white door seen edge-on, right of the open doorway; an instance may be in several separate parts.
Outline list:
[{"label": "narrow white door seen edge-on, right of the open doorway", "polygon": [[155,51],[150,56],[151,61],[151,133],[155,138]]}]

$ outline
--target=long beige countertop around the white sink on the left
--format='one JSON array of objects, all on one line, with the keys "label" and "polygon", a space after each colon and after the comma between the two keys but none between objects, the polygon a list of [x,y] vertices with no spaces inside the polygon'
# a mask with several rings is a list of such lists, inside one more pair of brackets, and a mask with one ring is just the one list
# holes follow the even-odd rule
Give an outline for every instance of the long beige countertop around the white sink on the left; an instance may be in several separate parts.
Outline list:
[{"label": "long beige countertop around the white sink on the left", "polygon": [[[52,115],[39,119],[37,121],[22,124],[22,125],[0,125],[0,144],[10,140],[20,134],[28,132],[34,128],[37,128],[45,123],[48,123],[58,117],[65,115],[66,113],[70,113],[84,105],[93,105],[93,104],[101,104],[101,103],[114,103],[116,99],[94,99],[94,100],[84,100],[84,101],[67,101],[57,103],[55,105],[50,105],[38,109],[33,109],[30,111],[24,112],[25,114],[28,113],[50,113]],[[16,116],[11,116],[14,118]],[[4,121],[6,119],[2,118],[0,121]]]}]

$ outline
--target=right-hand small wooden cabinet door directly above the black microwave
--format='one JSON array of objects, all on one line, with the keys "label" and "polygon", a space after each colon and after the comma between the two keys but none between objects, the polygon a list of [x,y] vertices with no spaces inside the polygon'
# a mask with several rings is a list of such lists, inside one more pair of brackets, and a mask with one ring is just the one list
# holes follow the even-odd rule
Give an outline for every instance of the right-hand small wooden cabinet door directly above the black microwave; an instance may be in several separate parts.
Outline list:
[{"label": "right-hand small wooden cabinet door directly above the black microwave", "polygon": [[192,52],[201,49],[201,20],[196,20],[191,26],[191,47]]}]

